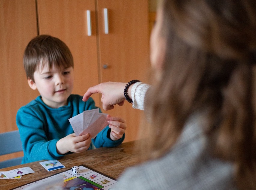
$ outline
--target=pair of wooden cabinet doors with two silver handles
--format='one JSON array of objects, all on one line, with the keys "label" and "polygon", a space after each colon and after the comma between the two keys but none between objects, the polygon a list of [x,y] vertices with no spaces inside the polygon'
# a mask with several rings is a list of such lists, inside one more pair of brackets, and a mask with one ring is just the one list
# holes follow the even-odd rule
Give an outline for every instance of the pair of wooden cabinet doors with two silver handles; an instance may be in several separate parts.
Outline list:
[{"label": "pair of wooden cabinet doors with two silver handles", "polygon": [[[38,26],[39,34],[58,37],[70,48],[75,62],[73,93],[83,95],[100,82],[147,78],[148,0],[38,0]],[[102,107],[101,95],[93,98]],[[104,112],[126,120],[125,141],[136,138],[142,111],[125,102],[123,107]]]}]

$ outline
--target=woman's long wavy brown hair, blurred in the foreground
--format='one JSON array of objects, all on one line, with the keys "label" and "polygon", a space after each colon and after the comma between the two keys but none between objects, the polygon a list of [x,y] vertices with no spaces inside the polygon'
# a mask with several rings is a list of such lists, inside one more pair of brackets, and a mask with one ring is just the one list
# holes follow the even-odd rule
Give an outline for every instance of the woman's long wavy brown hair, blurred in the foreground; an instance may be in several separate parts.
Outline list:
[{"label": "woman's long wavy brown hair, blurred in the foreground", "polygon": [[145,159],[165,155],[189,117],[207,113],[209,148],[234,164],[240,189],[256,189],[256,2],[163,0],[160,10],[167,45],[146,102]]}]

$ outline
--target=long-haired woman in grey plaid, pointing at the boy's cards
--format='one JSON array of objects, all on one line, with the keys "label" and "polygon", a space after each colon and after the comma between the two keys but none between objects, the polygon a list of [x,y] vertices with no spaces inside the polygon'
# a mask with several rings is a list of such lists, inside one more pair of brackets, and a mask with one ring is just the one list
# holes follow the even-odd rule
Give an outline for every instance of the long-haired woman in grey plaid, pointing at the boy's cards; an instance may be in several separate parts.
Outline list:
[{"label": "long-haired woman in grey plaid, pointing at the boy's cards", "polygon": [[[255,29],[253,0],[161,2],[154,83],[138,101],[151,124],[146,162],[128,169],[117,189],[256,189]],[[142,85],[128,88],[133,104]],[[124,103],[124,86],[99,84],[83,100],[102,93],[112,109]]]}]

